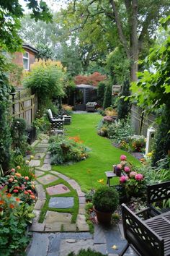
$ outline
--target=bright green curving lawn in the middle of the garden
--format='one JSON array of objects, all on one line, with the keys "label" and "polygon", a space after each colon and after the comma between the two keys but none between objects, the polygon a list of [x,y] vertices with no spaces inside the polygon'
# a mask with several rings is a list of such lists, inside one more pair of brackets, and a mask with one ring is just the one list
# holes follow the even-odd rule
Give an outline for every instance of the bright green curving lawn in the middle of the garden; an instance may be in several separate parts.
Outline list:
[{"label": "bright green curving lawn in the middle of the garden", "polygon": [[[53,166],[54,171],[66,174],[71,179],[75,179],[83,191],[96,189],[101,186],[99,179],[107,179],[104,171],[112,171],[112,165],[120,163],[120,155],[127,155],[128,161],[136,165],[140,162],[129,153],[115,148],[112,142],[97,135],[97,124],[102,119],[99,114],[73,114],[72,124],[65,126],[66,136],[79,136],[84,141],[84,145],[91,149],[90,156],[84,161],[73,163],[72,165]],[[118,184],[119,179],[115,179]]]}]

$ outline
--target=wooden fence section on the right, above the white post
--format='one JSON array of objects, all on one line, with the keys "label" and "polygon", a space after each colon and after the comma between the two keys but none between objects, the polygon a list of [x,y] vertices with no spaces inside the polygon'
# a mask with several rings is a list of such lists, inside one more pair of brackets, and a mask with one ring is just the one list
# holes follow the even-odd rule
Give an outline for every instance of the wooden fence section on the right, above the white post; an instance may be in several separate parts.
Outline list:
[{"label": "wooden fence section on the right, above the white post", "polygon": [[143,109],[135,105],[131,108],[131,124],[137,135],[144,135],[146,137],[147,129],[153,125],[155,118],[156,116],[153,114],[143,114]]}]

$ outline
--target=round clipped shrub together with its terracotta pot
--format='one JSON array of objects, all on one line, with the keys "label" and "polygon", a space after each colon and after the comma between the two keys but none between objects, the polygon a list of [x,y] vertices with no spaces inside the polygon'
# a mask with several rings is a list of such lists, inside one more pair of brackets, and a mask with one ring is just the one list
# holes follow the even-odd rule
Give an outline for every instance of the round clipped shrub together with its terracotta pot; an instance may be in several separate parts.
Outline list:
[{"label": "round clipped shrub together with its terracotta pot", "polygon": [[94,193],[93,205],[99,223],[109,224],[117,209],[119,195],[113,187],[102,186]]}]

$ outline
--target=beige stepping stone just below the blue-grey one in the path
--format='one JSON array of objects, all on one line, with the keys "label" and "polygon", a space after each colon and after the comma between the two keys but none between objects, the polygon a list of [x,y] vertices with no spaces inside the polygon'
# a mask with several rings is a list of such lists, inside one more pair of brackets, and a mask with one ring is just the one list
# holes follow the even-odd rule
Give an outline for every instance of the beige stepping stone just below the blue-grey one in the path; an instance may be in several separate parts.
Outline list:
[{"label": "beige stepping stone just below the blue-grey one in the path", "polygon": [[44,223],[71,223],[71,213],[58,213],[48,210]]}]

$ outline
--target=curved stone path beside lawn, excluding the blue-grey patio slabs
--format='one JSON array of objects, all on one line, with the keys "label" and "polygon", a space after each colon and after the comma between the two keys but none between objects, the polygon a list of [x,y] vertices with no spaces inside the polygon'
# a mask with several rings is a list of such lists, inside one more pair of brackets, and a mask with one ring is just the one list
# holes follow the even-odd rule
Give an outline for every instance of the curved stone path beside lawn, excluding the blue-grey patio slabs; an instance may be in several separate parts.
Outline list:
[{"label": "curved stone path beside lawn, excluding the blue-grey patio slabs", "polygon": [[[34,145],[33,145],[34,146]],[[35,189],[37,192],[37,202],[35,203],[35,214],[30,231],[89,231],[89,225],[85,218],[85,197],[81,191],[79,184],[70,179],[68,176],[51,170],[50,153],[48,152],[48,137],[35,142],[35,158],[30,161],[30,166],[35,166],[35,175],[37,176]],[[63,197],[71,190],[62,182],[60,184],[50,186],[50,183],[57,182],[58,179],[63,180],[75,189],[79,197],[79,214],[76,223],[71,223],[71,213],[65,213],[64,209],[73,208],[74,197]],[[48,185],[46,189],[44,185]],[[40,212],[46,200],[46,195],[50,196],[48,210],[45,214],[43,223],[39,223]],[[60,197],[61,195],[61,197]],[[57,196],[57,197],[55,197]],[[63,213],[57,212],[57,209],[63,209]]]}]

